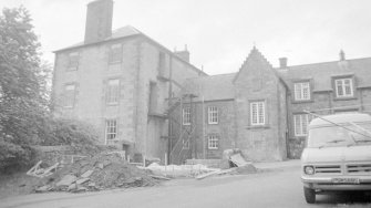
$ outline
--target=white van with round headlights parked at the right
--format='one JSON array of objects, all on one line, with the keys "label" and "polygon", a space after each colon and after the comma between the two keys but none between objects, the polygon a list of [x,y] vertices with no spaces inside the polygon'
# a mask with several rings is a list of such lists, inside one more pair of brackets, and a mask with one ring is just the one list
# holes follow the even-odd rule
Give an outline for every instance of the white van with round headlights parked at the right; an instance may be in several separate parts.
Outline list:
[{"label": "white van with round headlights parked at the right", "polygon": [[371,116],[334,114],[312,119],[301,155],[307,202],[328,190],[371,190]]}]

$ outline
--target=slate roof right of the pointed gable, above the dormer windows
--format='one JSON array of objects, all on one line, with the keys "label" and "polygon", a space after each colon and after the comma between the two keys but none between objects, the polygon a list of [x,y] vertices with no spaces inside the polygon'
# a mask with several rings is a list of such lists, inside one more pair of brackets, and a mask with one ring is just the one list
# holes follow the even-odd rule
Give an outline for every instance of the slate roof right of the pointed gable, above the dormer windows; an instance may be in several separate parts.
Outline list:
[{"label": "slate roof right of the pointed gable, above the dormer windows", "polygon": [[354,75],[355,87],[371,86],[371,58],[276,69],[292,90],[292,81],[311,79],[313,91],[332,91],[332,76]]}]

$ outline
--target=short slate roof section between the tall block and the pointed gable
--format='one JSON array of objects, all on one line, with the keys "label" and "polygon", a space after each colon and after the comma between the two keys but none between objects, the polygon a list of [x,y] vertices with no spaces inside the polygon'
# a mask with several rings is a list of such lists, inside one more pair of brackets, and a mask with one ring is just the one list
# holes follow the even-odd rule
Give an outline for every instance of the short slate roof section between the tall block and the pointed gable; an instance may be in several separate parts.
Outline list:
[{"label": "short slate roof section between the tall block and the pointed gable", "polygon": [[183,84],[183,93],[193,93],[197,97],[194,101],[218,101],[235,97],[233,80],[237,73],[219,74],[188,79]]}]

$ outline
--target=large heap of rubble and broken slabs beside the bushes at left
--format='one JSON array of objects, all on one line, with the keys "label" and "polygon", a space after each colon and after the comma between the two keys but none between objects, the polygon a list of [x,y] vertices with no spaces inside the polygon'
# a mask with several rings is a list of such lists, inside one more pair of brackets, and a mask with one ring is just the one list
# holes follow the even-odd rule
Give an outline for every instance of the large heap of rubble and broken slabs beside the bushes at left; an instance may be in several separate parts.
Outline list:
[{"label": "large heap of rubble and broken slabs beside the bushes at left", "polygon": [[35,188],[37,193],[79,193],[157,184],[157,180],[150,176],[151,173],[127,164],[120,154],[112,153],[80,158],[62,168],[56,164],[50,168],[37,166],[30,170],[34,176],[38,176],[38,171],[42,173],[39,175],[42,179]]}]

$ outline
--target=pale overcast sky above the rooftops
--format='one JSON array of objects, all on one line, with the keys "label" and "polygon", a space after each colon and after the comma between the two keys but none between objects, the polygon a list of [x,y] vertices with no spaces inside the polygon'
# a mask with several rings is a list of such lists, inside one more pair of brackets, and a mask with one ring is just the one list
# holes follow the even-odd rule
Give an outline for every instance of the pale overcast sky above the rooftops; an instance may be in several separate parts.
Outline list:
[{"label": "pale overcast sky above the rooftops", "polygon": [[[44,59],[81,42],[91,0],[0,0],[31,12]],[[188,45],[208,74],[237,72],[255,44],[274,65],[371,56],[370,0],[115,0],[113,29],[132,25],[166,48]]]}]

